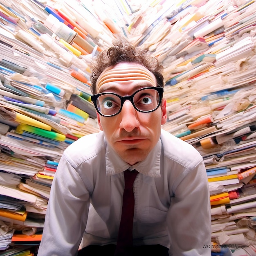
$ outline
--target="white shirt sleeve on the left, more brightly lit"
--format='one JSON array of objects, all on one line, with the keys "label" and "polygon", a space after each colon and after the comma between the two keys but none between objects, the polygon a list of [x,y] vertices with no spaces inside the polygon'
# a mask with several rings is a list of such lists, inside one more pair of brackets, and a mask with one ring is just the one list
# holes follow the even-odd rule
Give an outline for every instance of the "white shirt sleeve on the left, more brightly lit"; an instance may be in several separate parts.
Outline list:
[{"label": "white shirt sleeve on the left, more brightly lit", "polygon": [[38,256],[76,255],[89,205],[85,184],[63,154],[51,188]]}]

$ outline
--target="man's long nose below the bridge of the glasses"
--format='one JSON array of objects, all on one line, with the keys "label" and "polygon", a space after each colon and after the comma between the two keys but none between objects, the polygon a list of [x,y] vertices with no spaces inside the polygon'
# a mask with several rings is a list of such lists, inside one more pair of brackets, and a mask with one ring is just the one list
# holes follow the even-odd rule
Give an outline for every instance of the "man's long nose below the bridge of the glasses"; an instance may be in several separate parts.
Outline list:
[{"label": "man's long nose below the bridge of the glasses", "polygon": [[139,127],[139,120],[137,118],[137,110],[135,110],[132,103],[128,100],[124,102],[121,110],[120,128],[131,132],[134,128]]}]

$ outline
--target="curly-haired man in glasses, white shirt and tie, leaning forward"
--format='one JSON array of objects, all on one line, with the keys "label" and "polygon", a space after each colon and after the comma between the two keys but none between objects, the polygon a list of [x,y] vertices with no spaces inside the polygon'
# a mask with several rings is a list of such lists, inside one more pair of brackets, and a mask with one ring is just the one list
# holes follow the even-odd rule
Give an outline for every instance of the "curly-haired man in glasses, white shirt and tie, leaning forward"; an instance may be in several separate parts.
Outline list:
[{"label": "curly-haired man in glasses, white shirt and tie, leaning forward", "polygon": [[[82,238],[78,255],[211,255],[202,157],[161,130],[167,118],[162,65],[118,41],[97,56],[91,69],[102,131],[63,153],[38,255],[76,255]],[[133,225],[121,234],[127,173],[136,173],[130,189]],[[126,233],[132,236],[128,245],[122,240]]]}]

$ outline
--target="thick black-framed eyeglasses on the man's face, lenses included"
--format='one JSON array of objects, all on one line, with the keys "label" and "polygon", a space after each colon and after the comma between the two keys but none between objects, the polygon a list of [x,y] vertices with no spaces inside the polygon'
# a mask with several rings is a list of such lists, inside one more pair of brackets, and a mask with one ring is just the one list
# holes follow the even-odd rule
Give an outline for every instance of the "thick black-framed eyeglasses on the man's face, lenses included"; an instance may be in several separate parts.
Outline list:
[{"label": "thick black-framed eyeglasses on the man's face, lenses included", "polygon": [[144,87],[137,90],[130,96],[121,97],[112,92],[103,92],[92,95],[94,106],[103,117],[113,117],[119,114],[128,100],[139,112],[153,112],[161,104],[164,88],[162,87]]}]

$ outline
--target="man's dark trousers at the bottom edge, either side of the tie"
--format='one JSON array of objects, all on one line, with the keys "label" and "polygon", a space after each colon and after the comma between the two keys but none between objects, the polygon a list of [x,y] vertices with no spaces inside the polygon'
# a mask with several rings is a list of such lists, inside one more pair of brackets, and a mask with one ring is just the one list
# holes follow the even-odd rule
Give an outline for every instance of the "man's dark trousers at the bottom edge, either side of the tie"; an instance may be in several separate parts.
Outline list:
[{"label": "man's dark trousers at the bottom edge, either side of the tie", "polygon": [[[98,256],[115,254],[116,245],[89,245],[78,251],[78,256]],[[132,248],[132,256],[168,256],[168,248],[162,245],[141,245]]]}]

